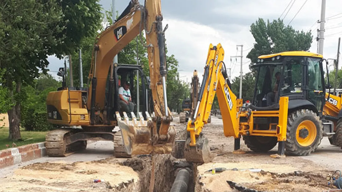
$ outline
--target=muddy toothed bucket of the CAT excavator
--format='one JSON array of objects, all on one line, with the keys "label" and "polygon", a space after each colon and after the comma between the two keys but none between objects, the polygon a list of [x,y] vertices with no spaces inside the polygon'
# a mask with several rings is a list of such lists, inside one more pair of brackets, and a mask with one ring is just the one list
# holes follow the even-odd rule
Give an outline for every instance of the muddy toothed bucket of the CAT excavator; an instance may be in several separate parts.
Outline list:
[{"label": "muddy toothed bucket of the CAT excavator", "polygon": [[153,136],[153,121],[150,115],[146,112],[147,119],[145,120],[142,113],[139,112],[139,120],[132,114],[132,119],[129,120],[126,112],[123,112],[123,119],[119,112],[116,112],[118,126],[121,129],[123,145],[129,155],[137,154],[166,154],[171,153],[172,145],[175,137],[175,130],[170,126],[167,139],[153,142],[156,140]]}]

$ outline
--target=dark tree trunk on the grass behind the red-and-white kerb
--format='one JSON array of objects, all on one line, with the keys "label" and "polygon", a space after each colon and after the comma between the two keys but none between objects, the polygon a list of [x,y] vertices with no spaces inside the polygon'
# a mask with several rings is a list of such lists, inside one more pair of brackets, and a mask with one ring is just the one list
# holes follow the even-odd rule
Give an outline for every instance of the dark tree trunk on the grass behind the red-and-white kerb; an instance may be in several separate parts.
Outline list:
[{"label": "dark tree trunk on the grass behind the red-and-white kerb", "polygon": [[[21,89],[21,82],[16,84],[16,89],[15,93],[19,93]],[[10,90],[10,97],[12,98],[13,103],[15,102],[15,105],[12,107],[12,109],[8,110],[8,121],[9,121],[9,127],[10,127],[10,134],[9,138],[13,139],[16,141],[17,139],[21,139],[20,135],[20,127],[19,127],[19,122],[20,122],[20,102],[15,101],[14,99],[14,90]]]}]

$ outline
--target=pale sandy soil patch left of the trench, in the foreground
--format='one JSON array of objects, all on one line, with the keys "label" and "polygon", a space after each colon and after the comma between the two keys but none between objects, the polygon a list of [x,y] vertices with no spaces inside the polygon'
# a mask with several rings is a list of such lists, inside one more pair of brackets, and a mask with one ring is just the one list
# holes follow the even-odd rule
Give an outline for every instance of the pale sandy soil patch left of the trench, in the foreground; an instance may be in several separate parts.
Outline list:
[{"label": "pale sandy soil patch left of the trench, in the foreground", "polygon": [[[104,182],[94,183],[94,179]],[[110,160],[34,163],[0,180],[0,191],[11,192],[139,192],[139,177],[132,168]]]}]

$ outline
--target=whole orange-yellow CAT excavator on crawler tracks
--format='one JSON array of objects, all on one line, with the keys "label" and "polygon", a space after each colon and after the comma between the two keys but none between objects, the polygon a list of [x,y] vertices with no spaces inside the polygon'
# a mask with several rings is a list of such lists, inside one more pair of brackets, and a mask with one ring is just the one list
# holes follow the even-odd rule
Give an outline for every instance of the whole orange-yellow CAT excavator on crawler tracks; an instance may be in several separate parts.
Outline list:
[{"label": "whole orange-yellow CAT excavator on crawler tracks", "polygon": [[[116,154],[170,153],[175,130],[167,106],[165,29],[160,0],[132,0],[117,21],[96,38],[89,73],[89,89],[63,87],[47,97],[48,121],[60,129],[50,131],[45,146],[49,156],[64,157],[86,148],[87,140],[115,141]],[[145,30],[150,84],[142,67],[113,63],[113,57]],[[60,74],[63,75],[63,68]],[[130,82],[136,109],[132,118],[119,107],[119,82]],[[146,90],[152,92],[154,116],[147,113]],[[141,111],[145,113],[141,113]],[[115,134],[118,126],[121,132]]]}]

